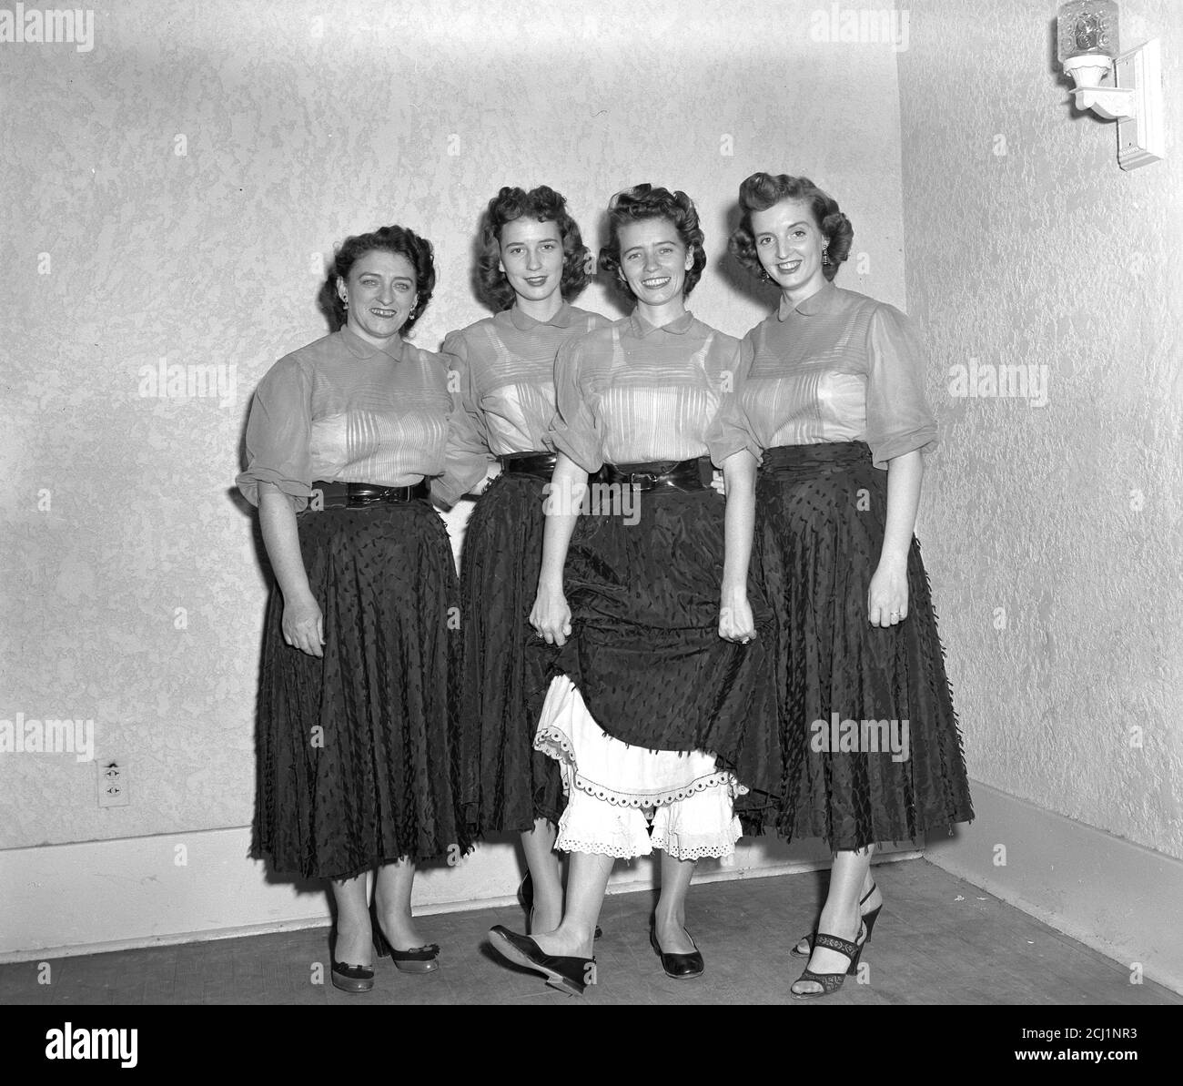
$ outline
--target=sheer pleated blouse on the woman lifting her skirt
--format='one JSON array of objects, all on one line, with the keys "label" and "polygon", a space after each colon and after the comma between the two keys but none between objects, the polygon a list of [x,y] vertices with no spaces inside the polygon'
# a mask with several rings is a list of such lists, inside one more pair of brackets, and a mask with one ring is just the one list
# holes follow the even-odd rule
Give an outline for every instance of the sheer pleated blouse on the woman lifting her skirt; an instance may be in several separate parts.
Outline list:
[{"label": "sheer pleated blouse on the woman lifting her skirt", "polygon": [[584,471],[711,453],[739,343],[691,312],[655,328],[634,312],[564,343],[548,442]]}]

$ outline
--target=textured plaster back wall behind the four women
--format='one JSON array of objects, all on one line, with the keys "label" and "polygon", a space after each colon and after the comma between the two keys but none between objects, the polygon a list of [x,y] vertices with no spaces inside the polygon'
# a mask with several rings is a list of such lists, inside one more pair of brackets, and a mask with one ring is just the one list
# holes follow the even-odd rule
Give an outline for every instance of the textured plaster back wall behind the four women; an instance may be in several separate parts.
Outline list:
[{"label": "textured plaster back wall behind the four women", "polygon": [[[693,308],[743,334],[771,299],[716,264],[736,188],[803,172],[858,226],[841,282],[904,304],[897,57],[816,40],[816,9],[131,0],[89,52],[0,44],[0,720],[92,719],[130,794],[99,810],[92,763],[0,754],[0,847],[250,821],[265,583],[228,491],[250,393],[324,334],[347,234],[435,243],[434,348],[483,315],[471,240],[500,185],[561,189],[593,243],[616,189],[680,187],[712,260]],[[226,367],[225,394],[156,395],[161,360]]]}]

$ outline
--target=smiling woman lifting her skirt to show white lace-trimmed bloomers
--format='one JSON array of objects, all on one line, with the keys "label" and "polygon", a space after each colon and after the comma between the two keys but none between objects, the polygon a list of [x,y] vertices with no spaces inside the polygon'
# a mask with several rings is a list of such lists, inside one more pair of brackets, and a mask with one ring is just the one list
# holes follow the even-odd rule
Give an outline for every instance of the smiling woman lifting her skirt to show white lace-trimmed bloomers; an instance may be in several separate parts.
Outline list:
[{"label": "smiling woman lifting her skirt to show white lace-trimmed bloomers", "polygon": [[[594,978],[614,860],[654,849],[651,945],[667,976],[702,976],[685,926],[694,862],[730,855],[736,799],[748,794],[758,821],[781,776],[770,672],[754,640],[769,615],[746,590],[742,606],[729,595],[746,580],[746,555],[724,547],[743,510],[729,510],[725,529],[723,498],[704,486],[738,343],[686,310],[706,256],[685,193],[639,185],[613,198],[608,220],[600,266],[636,308],[558,353],[557,457],[530,615],[560,647],[535,745],[560,763],[568,796],[556,842],[573,853],[567,907],[532,938],[491,932],[506,958],[573,994]],[[589,489],[601,467],[605,481]]]}]

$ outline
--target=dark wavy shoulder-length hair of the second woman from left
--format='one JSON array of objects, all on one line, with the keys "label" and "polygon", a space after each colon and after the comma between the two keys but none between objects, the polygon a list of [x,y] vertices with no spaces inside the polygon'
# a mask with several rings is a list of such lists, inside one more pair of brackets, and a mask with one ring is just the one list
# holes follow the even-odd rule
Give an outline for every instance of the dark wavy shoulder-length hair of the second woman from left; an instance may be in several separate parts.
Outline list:
[{"label": "dark wavy shoulder-length hair of the second woman from left", "polygon": [[505,272],[497,266],[502,257],[502,227],[506,222],[530,215],[539,222],[554,222],[563,241],[563,278],[558,291],[564,299],[574,298],[588,282],[588,248],[583,244],[578,224],[567,211],[562,193],[545,185],[526,192],[504,186],[489,201],[480,216],[480,245],[477,256],[477,285],[481,300],[499,312],[513,304],[513,287]]}]

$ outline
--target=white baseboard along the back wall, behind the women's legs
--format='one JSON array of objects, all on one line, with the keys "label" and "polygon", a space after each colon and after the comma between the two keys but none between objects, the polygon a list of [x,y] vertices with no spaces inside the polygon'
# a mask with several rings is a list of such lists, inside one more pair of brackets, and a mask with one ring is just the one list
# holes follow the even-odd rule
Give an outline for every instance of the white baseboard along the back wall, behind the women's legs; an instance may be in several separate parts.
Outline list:
[{"label": "white baseboard along the back wall, behind the women's legs", "polygon": [[[328,924],[327,885],[269,877],[261,862],[246,858],[250,840],[250,829],[231,828],[2,851],[0,962]],[[918,855],[898,849],[890,858]],[[696,879],[788,874],[828,862],[819,841],[787,847],[770,838],[744,839],[731,862],[703,860]],[[415,911],[508,905],[521,871],[509,839],[481,845],[455,867],[424,867],[415,878]],[[648,860],[618,862],[608,892],[653,885]]]}]

